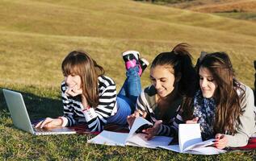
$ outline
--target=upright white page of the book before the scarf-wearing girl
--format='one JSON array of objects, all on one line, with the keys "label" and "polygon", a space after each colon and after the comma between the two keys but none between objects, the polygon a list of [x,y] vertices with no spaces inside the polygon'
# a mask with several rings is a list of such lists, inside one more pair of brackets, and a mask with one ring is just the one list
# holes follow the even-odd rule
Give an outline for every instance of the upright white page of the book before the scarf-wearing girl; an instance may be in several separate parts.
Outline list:
[{"label": "upright white page of the book before the scarf-wearing girl", "polygon": [[178,125],[179,151],[183,152],[187,147],[190,147],[198,142],[202,142],[199,124]]}]

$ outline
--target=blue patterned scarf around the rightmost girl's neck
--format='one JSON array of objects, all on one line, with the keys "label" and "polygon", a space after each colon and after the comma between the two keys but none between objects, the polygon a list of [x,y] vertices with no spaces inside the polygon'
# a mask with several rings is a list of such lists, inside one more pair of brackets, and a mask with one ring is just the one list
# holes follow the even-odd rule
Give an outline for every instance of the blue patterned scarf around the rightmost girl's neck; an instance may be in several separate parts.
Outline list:
[{"label": "blue patterned scarf around the rightmost girl's neck", "polygon": [[201,90],[195,93],[194,117],[198,117],[203,140],[214,138],[213,123],[215,119],[216,103],[213,98],[205,98]]}]

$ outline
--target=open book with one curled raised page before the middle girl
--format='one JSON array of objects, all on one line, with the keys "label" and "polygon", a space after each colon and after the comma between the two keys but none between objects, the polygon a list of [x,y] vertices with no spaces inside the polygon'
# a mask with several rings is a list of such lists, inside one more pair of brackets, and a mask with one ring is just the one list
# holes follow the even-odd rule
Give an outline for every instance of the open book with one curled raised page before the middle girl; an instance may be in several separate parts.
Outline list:
[{"label": "open book with one curled raised page before the middle girl", "polygon": [[136,146],[136,147],[149,147],[157,148],[159,146],[167,146],[172,140],[166,136],[155,136],[151,140],[145,138],[146,134],[136,133],[141,126],[153,126],[151,122],[145,118],[136,118],[133,122],[132,128],[129,133],[117,133],[112,131],[103,130],[100,134],[88,140],[88,143],[104,144],[109,146]]}]

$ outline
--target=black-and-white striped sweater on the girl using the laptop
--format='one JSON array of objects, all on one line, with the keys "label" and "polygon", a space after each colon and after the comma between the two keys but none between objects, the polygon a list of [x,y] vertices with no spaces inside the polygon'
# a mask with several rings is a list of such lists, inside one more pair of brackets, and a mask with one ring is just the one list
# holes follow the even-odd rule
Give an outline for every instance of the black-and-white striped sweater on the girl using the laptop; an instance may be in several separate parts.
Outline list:
[{"label": "black-and-white striped sweater on the girl using the laptop", "polygon": [[99,105],[82,111],[81,95],[77,97],[67,97],[65,81],[61,84],[61,97],[64,106],[64,116],[62,126],[74,126],[86,124],[91,131],[101,131],[107,123],[107,118],[115,115],[116,107],[116,87],[115,82],[107,76],[99,76]]}]

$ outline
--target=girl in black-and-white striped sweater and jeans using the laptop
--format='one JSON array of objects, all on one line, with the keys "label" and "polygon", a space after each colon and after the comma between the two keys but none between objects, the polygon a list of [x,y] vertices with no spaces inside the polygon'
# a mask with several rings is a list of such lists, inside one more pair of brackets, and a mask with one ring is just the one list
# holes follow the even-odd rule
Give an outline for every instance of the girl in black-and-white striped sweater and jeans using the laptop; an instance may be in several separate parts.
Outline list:
[{"label": "girl in black-and-white striped sweater and jeans using the laptop", "polygon": [[139,55],[136,51],[123,53],[127,79],[116,95],[115,82],[104,76],[99,64],[86,52],[70,52],[61,64],[65,76],[65,81],[61,83],[64,115],[46,118],[36,127],[83,124],[91,131],[101,131],[107,123],[125,125],[127,116],[135,109],[136,97],[141,93],[142,68],[148,65]]}]

